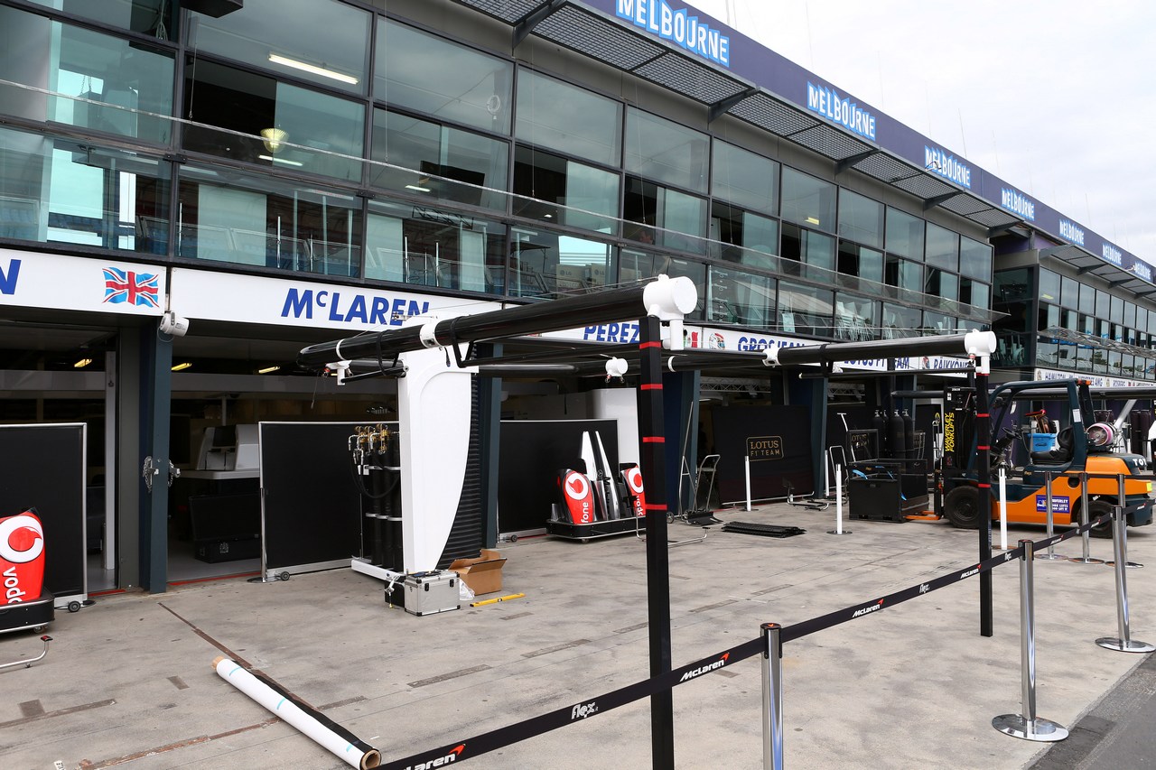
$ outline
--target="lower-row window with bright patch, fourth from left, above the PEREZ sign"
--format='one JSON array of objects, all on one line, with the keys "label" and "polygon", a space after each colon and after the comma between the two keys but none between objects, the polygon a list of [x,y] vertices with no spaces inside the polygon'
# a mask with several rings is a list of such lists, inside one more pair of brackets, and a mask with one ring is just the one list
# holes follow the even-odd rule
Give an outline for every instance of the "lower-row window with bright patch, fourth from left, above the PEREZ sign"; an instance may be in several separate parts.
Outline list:
[{"label": "lower-row window with bright patch, fourth from left, above the PEREZ sign", "polygon": [[615,272],[614,250],[596,240],[513,228],[510,295],[549,297],[605,287]]}]

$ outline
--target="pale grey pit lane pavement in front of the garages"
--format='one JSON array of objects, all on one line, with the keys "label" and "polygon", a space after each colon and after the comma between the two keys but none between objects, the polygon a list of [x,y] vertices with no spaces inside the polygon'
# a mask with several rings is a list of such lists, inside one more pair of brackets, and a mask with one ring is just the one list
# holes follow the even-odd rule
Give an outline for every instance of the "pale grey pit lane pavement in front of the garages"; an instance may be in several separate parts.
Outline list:
[{"label": "pale grey pit lane pavement in front of the garages", "polygon": [[[849,511],[849,516],[852,511]],[[718,512],[796,526],[791,538],[722,532],[668,549],[675,668],[975,565],[977,534],[946,523],[846,519],[784,503]],[[703,531],[670,525],[670,540]],[[1042,539],[1013,527],[1010,540]],[[1132,637],[1156,639],[1156,527],[1129,532]],[[499,546],[503,590],[523,598],[428,616],[390,608],[348,569],[287,582],[245,577],[163,594],[96,598],[58,612],[44,660],[0,671],[0,767],[261,770],[342,760],[230,687],[229,657],[377,747],[386,763],[464,745],[482,769],[651,765],[649,699],[598,708],[649,671],[646,547],[636,536],[550,536]],[[1080,541],[1055,549],[1081,553]],[[1092,540],[1111,558],[1111,541]],[[1072,730],[1040,745],[992,728],[1020,713],[1020,578],[992,571],[994,635],[979,634],[979,582],[953,579],[784,645],[784,754],[792,768],[1143,768],[1156,756],[1151,656],[1102,649],[1117,634],[1113,571],[1037,562],[1037,716]],[[36,634],[0,636],[0,662],[34,657]],[[679,768],[763,767],[757,656],[673,690]],[[491,731],[586,706],[557,730],[476,754]],[[603,704],[605,705],[605,704]],[[59,765],[57,764],[59,763]],[[400,764],[405,768],[406,764]],[[420,767],[414,764],[414,767]]]}]

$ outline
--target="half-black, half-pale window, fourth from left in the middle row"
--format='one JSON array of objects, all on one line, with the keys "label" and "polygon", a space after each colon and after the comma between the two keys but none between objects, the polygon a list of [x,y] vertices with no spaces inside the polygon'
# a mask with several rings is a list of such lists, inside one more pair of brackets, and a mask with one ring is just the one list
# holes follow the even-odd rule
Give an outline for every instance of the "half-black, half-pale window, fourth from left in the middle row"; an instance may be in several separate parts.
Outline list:
[{"label": "half-black, half-pale window, fourth from left in the middle row", "polygon": [[618,216],[618,175],[531,147],[513,158],[513,213],[560,224],[614,232]]}]

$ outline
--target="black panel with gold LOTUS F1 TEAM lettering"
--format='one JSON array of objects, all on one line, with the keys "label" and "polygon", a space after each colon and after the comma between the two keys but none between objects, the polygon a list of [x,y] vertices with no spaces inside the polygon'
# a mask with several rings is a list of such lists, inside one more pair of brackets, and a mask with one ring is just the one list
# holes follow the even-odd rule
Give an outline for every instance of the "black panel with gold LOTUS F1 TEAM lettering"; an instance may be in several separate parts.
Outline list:
[{"label": "black panel with gold LOTUS F1 TEAM lettering", "polygon": [[[720,456],[714,477],[719,499],[747,499],[743,458],[748,446],[753,451],[768,445],[776,447],[773,452],[764,453],[766,459],[751,457],[753,499],[786,497],[785,481],[794,486],[796,495],[808,495],[815,489],[812,475],[810,412],[807,407],[714,407],[711,420],[714,427],[714,451]],[[820,480],[820,486],[822,483]]]}]

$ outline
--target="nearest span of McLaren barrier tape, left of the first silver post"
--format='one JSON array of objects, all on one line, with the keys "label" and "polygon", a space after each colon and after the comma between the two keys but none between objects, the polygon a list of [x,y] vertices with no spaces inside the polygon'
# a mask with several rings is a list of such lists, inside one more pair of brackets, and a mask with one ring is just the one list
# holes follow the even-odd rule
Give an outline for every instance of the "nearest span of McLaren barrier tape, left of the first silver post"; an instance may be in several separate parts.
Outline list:
[{"label": "nearest span of McLaren barrier tape, left of the first silver post", "polygon": [[417,770],[418,768],[440,768],[451,762],[465,761],[469,757],[479,756],[481,754],[492,752],[494,749],[499,749],[505,746],[510,746],[511,743],[524,741],[527,738],[534,738],[536,735],[541,735],[542,733],[548,733],[551,730],[565,727],[571,723],[606,713],[612,709],[617,709],[618,706],[627,705],[628,703],[640,701],[642,698],[654,695],[655,693],[669,690],[679,684],[698,679],[704,674],[710,674],[740,660],[751,658],[765,650],[765,647],[766,643],[762,638],[751,639],[750,642],[740,644],[736,647],[719,652],[709,658],[702,658],[701,660],[696,660],[695,662],[680,668],[672,669],[661,676],[628,684],[627,687],[614,690],[613,693],[579,701],[578,703],[571,703],[570,705],[555,711],[532,717],[513,725],[498,727],[497,730],[482,733],[481,735],[447,743],[440,748],[422,752],[421,754],[414,754],[405,760],[383,762],[378,767],[381,768],[381,770]]}]

